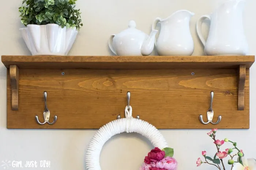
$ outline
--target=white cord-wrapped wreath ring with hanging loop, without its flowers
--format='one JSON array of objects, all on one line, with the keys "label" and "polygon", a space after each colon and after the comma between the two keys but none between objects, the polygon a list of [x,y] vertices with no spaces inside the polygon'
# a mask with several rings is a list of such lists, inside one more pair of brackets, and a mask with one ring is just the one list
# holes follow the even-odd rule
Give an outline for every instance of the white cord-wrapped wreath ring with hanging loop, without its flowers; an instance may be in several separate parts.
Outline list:
[{"label": "white cord-wrapped wreath ring with hanging loop, without its flowers", "polygon": [[152,124],[132,117],[132,107],[125,107],[125,118],[113,120],[102,126],[91,139],[86,152],[87,170],[101,170],[99,165],[99,156],[103,145],[111,137],[123,132],[139,133],[148,138],[154,147],[163,149],[167,142],[163,135]]}]

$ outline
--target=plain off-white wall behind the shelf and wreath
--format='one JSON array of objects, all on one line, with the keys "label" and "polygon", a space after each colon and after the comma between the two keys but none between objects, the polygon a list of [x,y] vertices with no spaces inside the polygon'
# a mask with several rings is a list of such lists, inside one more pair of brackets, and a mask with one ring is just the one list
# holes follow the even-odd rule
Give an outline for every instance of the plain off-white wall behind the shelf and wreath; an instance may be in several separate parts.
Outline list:
[{"label": "plain off-white wall behind the shelf and wreath", "polygon": [[[30,55],[18,31],[18,7],[22,0],[1,0],[0,55]],[[191,32],[195,41],[193,55],[204,55],[195,33],[196,20],[208,14],[223,0],[78,0],[84,27],[80,29],[69,55],[111,55],[107,42],[109,35],[127,28],[135,20],[137,28],[149,33],[155,17],[165,18],[179,9],[195,12]],[[250,46],[250,55],[256,54],[256,1],[247,0],[244,27]],[[236,29],[236,28],[234,28]],[[256,158],[256,66],[250,74],[250,123],[249,130],[219,130],[218,138],[228,137],[237,141],[248,157]],[[6,68],[0,63],[0,170],[2,160],[50,160],[52,170],[85,170],[84,155],[94,130],[7,130],[6,129]],[[161,113],[159,113],[161,114]],[[216,113],[221,114],[221,113]],[[236,116],[236,115],[234,115]],[[96,119],[96,118],[95,118]],[[171,123],[171,122],[170,122]],[[208,130],[161,130],[179,169],[215,169],[203,165],[196,167],[202,150],[214,154],[215,147],[207,136]],[[101,154],[102,170],[135,170],[151,149],[147,139],[136,134],[117,135],[108,141]],[[225,148],[223,148],[225,149]],[[13,168],[9,168],[13,169]],[[39,167],[37,169],[40,169]],[[229,169],[229,168],[228,168]]]}]

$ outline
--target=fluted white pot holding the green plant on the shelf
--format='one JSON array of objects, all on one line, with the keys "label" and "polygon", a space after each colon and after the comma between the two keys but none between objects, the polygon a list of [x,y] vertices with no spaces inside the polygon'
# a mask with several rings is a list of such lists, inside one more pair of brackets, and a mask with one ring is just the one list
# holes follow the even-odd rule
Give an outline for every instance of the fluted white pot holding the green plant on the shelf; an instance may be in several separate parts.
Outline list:
[{"label": "fluted white pot holding the green plant on the shelf", "polygon": [[19,30],[32,55],[68,55],[78,34],[76,28],[58,24],[29,24]]}]

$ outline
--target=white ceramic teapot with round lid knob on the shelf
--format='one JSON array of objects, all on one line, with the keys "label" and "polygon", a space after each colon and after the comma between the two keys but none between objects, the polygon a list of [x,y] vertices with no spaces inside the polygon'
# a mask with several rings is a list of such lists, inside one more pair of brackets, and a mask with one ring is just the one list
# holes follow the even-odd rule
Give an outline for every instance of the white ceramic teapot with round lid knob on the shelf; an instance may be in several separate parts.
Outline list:
[{"label": "white ceramic teapot with round lid knob on the shelf", "polygon": [[128,28],[111,35],[109,39],[110,50],[118,56],[150,55],[154,50],[157,30],[152,29],[150,35],[135,28],[135,21],[129,21]]}]

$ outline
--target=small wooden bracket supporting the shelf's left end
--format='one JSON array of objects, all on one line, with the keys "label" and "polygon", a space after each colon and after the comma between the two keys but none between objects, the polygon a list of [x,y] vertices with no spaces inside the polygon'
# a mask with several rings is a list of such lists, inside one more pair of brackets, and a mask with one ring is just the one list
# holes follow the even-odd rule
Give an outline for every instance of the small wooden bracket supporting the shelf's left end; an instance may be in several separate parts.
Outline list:
[{"label": "small wooden bracket supporting the shelf's left end", "polygon": [[19,91],[19,67],[10,65],[10,79],[12,90],[12,110],[19,110],[18,91]]}]

